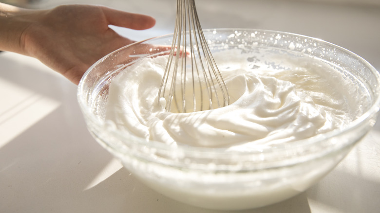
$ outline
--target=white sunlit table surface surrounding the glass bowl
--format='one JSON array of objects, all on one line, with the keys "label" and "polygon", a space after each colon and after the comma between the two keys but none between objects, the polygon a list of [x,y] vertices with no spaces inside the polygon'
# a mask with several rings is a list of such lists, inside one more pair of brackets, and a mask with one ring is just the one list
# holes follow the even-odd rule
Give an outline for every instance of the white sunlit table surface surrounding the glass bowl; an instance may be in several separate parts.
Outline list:
[{"label": "white sunlit table surface surrounding the glass bowl", "polygon": [[[87,2],[157,19],[151,30],[116,29],[130,38],[172,32],[175,0],[42,0],[33,7]],[[362,2],[366,3],[196,1],[203,28],[258,28],[319,37],[361,55],[380,70],[380,3]],[[88,133],[76,86],[38,60],[0,53],[0,97],[0,213],[218,212],[181,204],[138,182]],[[379,142],[377,124],[306,192],[241,213],[380,212]]]}]

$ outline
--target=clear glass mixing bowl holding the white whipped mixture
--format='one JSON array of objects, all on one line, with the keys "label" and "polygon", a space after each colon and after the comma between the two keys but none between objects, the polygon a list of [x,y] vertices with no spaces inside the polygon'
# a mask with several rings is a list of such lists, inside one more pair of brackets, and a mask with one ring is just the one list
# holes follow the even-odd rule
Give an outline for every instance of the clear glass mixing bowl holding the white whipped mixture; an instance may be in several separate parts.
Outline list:
[{"label": "clear glass mixing bowl holding the white whipped mixture", "polygon": [[[121,68],[145,57],[167,53],[172,35],[136,42],[96,62],[79,83],[77,97],[89,131],[146,185],[198,207],[240,210],[285,200],[305,191],[331,171],[375,124],[380,75],[365,60],[331,43],[284,32],[255,29],[204,30],[212,52],[236,49],[322,61],[349,76],[369,94],[364,113],[340,131],[250,152],[224,148],[168,146],[116,130],[104,119],[108,86]],[[266,58],[268,59],[266,61]],[[275,67],[275,66],[272,66]],[[360,94],[357,94],[360,95]]]}]

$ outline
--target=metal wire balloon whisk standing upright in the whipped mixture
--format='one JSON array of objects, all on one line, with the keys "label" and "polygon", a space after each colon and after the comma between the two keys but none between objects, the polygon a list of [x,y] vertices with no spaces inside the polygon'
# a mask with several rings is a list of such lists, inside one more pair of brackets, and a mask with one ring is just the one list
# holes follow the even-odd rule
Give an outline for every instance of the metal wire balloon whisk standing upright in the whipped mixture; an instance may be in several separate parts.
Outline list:
[{"label": "metal wire balloon whisk standing upright in the whipped mixture", "polygon": [[229,104],[226,83],[209,50],[194,0],[177,0],[171,51],[158,101],[167,111],[178,113]]}]

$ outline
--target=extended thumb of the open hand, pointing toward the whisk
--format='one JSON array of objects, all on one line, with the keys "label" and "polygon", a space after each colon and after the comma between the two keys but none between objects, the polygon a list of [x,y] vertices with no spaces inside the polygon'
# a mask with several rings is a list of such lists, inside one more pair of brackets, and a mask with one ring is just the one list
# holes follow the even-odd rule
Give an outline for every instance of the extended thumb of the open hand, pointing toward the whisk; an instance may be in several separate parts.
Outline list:
[{"label": "extended thumb of the open hand, pointing toward the whisk", "polygon": [[109,24],[119,27],[145,30],[153,27],[156,23],[154,18],[142,14],[128,13],[108,7],[102,7],[102,10]]}]

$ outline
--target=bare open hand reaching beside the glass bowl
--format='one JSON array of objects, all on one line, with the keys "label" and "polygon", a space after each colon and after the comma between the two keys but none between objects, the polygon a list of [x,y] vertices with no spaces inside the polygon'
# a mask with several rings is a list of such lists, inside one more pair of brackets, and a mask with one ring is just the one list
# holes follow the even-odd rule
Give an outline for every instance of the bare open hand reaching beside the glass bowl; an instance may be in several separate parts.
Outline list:
[{"label": "bare open hand reaching beside the glass bowl", "polygon": [[[61,5],[49,10],[20,10],[19,49],[39,59],[75,84],[98,59],[133,43],[109,25],[134,30],[151,28],[152,17],[95,5]],[[12,51],[12,49],[11,49]]]}]

